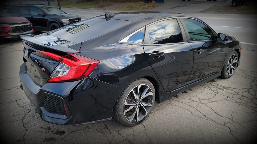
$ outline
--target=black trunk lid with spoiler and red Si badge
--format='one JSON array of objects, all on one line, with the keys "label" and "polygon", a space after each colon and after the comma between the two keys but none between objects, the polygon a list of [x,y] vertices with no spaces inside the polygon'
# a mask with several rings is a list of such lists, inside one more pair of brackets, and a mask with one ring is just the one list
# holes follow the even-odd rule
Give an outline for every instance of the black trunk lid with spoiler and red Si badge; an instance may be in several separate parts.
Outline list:
[{"label": "black trunk lid with spoiler and red Si badge", "polygon": [[39,37],[23,35],[21,38],[24,40],[22,43],[24,45],[23,61],[25,62],[25,70],[40,87],[47,83],[52,72],[60,63],[40,51],[49,51],[61,56],[67,53],[80,53],[78,50],[81,47],[81,43],[74,43],[47,35]]}]

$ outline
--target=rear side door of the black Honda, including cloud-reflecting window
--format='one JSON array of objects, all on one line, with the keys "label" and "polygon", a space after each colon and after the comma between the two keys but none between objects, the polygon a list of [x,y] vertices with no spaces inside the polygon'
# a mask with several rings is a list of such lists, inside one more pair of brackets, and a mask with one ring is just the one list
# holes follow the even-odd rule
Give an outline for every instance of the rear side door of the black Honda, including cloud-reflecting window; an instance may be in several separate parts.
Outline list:
[{"label": "rear side door of the black Honda, including cloud-reflecting window", "polygon": [[179,19],[165,19],[146,26],[143,47],[165,91],[187,84],[193,66],[193,49]]}]

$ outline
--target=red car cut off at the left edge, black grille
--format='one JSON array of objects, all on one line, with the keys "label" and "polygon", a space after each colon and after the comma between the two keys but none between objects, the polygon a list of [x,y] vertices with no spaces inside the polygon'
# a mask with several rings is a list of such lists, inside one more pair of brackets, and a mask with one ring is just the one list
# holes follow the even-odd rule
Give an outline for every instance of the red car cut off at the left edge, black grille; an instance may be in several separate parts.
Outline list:
[{"label": "red car cut off at the left edge, black grille", "polygon": [[32,34],[32,23],[24,17],[13,17],[0,10],[0,40],[20,39],[20,35]]}]

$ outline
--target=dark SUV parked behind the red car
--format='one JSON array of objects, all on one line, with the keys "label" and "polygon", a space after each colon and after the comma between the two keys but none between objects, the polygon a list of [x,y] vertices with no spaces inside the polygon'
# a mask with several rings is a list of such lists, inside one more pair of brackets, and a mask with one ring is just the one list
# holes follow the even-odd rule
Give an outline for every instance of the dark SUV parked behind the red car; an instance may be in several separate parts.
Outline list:
[{"label": "dark SUV parked behind the red car", "polygon": [[33,23],[35,31],[50,31],[81,21],[78,15],[71,15],[47,5],[16,5],[10,6],[7,12],[12,16],[27,18]]}]

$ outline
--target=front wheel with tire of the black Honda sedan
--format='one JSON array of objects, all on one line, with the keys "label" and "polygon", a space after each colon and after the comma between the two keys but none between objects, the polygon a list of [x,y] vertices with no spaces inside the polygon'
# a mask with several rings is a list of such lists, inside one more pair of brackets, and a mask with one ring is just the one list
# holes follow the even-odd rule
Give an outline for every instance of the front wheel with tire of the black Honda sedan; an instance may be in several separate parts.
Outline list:
[{"label": "front wheel with tire of the black Honda sedan", "polygon": [[220,77],[223,79],[230,78],[234,74],[237,64],[238,64],[238,54],[236,51],[233,51],[228,57],[228,60],[226,61],[226,63],[224,64]]}]

